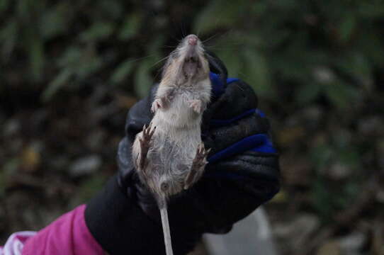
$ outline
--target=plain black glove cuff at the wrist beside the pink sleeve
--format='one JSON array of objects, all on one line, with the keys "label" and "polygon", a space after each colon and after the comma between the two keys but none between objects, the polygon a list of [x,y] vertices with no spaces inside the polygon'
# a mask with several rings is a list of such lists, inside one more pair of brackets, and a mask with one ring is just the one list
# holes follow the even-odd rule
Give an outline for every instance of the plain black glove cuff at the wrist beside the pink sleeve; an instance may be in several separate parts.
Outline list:
[{"label": "plain black glove cuff at the wrist beside the pink sleeve", "polygon": [[113,176],[92,198],[85,222],[94,239],[109,254],[163,254],[162,227],[145,215],[118,186]]}]

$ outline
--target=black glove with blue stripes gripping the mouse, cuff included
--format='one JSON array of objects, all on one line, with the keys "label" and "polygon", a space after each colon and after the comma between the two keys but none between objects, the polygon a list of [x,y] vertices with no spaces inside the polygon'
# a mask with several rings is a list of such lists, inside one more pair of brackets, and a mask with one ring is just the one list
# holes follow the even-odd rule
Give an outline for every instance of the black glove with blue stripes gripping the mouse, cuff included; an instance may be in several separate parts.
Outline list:
[{"label": "black glove with blue stripes gripping the mouse, cuff included", "polygon": [[[211,149],[208,155],[209,164],[205,166],[205,174],[198,183],[169,200],[174,254],[191,251],[205,232],[229,231],[235,222],[271,199],[279,189],[278,154],[269,140],[269,123],[264,114],[257,110],[254,91],[243,81],[227,79],[227,70],[217,57],[210,57],[210,69],[213,71],[210,74],[213,101],[204,113],[202,125],[205,148]],[[128,232],[135,236],[136,241],[127,244],[123,250],[118,246],[124,244],[124,237],[119,242],[115,239],[111,241],[111,238],[106,241],[105,237],[97,237],[100,234],[94,233],[101,230],[91,226],[91,232],[96,235],[98,242],[103,242],[102,246],[110,254],[164,254],[157,203],[140,183],[131,161],[135,135],[142,130],[143,125],[148,125],[152,120],[150,108],[156,90],[157,86],[154,86],[147,98],[130,109],[125,126],[126,136],[118,148],[119,186],[123,188],[130,202],[140,208],[135,212],[135,217],[137,213],[144,212],[151,222],[145,222],[145,217],[140,215],[137,217],[140,219],[137,220],[137,225],[148,230],[153,229],[145,231],[146,236],[135,222],[133,225],[131,221],[125,223],[132,228]],[[92,203],[88,207],[90,205]],[[133,217],[132,215],[134,214],[127,213],[113,217]],[[91,221],[87,220],[87,223]],[[95,224],[91,222],[88,225]],[[147,246],[147,240],[140,241],[146,238],[150,240]],[[126,242],[129,242],[128,238]],[[140,242],[144,242],[144,246]]]}]

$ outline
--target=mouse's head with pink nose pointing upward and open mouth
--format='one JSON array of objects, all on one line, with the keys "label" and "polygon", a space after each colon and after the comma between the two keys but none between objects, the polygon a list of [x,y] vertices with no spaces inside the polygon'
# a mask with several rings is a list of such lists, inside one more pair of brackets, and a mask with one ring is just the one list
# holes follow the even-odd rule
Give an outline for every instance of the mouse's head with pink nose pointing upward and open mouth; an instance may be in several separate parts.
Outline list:
[{"label": "mouse's head with pink nose pointing upward and open mouth", "polygon": [[171,52],[163,67],[162,81],[186,84],[209,78],[209,63],[203,43],[196,35],[187,35]]}]

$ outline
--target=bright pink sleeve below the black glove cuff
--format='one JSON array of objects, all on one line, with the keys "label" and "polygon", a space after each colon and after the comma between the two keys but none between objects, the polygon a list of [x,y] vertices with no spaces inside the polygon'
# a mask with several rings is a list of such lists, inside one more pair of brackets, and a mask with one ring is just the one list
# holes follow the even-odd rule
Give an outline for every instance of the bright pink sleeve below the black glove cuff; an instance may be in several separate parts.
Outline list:
[{"label": "bright pink sleeve below the black glove cuff", "polygon": [[85,205],[59,217],[27,240],[23,255],[103,255],[84,220]]}]

